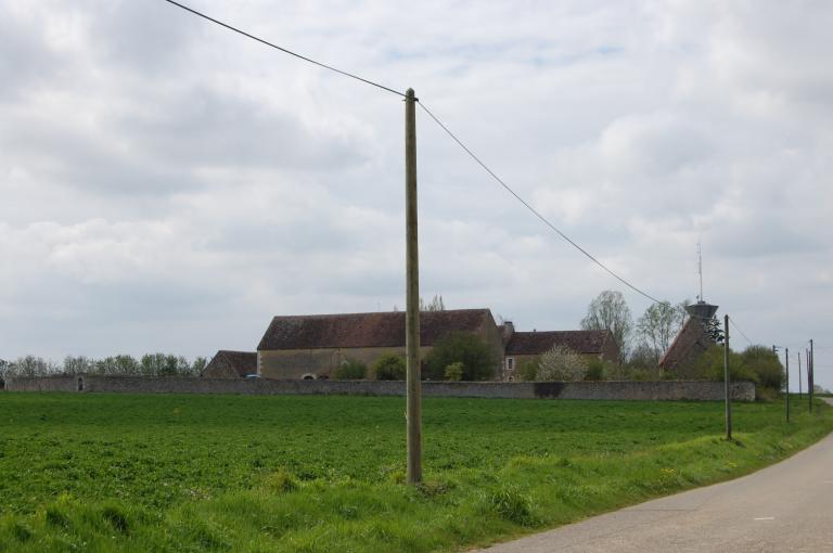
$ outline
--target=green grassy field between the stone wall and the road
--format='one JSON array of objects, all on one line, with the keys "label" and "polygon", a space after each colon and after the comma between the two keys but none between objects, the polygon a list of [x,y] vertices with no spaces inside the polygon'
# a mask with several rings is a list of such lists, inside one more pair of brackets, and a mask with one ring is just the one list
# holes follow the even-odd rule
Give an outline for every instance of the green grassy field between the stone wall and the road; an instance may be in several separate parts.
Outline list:
[{"label": "green grassy field between the stone wall and the road", "polygon": [[0,394],[0,551],[454,551],[748,473],[833,409],[426,399]]}]

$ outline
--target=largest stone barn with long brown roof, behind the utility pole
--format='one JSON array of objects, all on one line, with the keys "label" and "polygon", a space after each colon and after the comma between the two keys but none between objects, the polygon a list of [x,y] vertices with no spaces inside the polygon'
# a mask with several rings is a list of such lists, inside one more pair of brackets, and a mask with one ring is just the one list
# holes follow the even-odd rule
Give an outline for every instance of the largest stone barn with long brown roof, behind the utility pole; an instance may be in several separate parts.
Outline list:
[{"label": "largest stone barn with long brown roof, behind the utility pole", "polygon": [[[503,340],[488,309],[420,313],[420,357],[443,337],[473,333],[502,359]],[[405,312],[274,317],[257,346],[257,373],[265,378],[329,377],[347,359],[368,366],[385,353],[405,356]],[[496,366],[496,378],[500,378]]]}]

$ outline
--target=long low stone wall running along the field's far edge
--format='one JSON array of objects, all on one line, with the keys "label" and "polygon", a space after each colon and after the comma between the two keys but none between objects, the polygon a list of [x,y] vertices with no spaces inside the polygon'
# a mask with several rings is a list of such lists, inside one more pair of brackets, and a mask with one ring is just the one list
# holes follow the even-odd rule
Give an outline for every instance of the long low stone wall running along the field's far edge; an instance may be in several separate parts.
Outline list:
[{"label": "long low stone wall running along the field's far edge", "polygon": [[[50,376],[10,378],[10,391],[100,391],[136,394],[249,394],[403,396],[403,382],[271,381],[144,376]],[[424,396],[508,399],[697,400],[723,399],[723,384],[661,382],[423,382]],[[755,385],[732,383],[734,400],[754,401]]]}]

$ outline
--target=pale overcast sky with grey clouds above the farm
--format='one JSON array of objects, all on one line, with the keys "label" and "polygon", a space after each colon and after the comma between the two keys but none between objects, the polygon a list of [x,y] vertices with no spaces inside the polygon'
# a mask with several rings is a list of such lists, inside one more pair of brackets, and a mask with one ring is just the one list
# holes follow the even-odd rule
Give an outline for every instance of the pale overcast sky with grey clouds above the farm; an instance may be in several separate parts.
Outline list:
[{"label": "pale overcast sky with grey clouds above the farm", "polygon": [[[696,298],[700,242],[705,299],[794,384],[813,338],[833,387],[830,2],[185,3],[412,87],[654,297]],[[416,126],[423,297],[518,330],[577,329],[603,290],[642,314]],[[0,358],[210,357],[275,314],[402,309],[403,137],[401,98],[164,0],[0,0]]]}]

